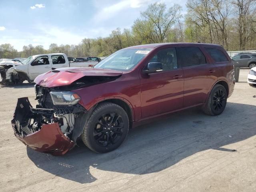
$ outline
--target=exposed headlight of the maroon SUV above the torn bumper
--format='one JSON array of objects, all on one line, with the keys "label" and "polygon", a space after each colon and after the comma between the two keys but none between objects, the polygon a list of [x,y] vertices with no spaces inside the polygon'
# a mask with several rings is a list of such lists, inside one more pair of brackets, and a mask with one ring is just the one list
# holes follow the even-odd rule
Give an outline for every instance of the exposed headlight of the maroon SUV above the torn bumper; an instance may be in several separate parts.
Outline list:
[{"label": "exposed headlight of the maroon SUV above the torn bumper", "polygon": [[70,91],[51,91],[50,94],[54,105],[75,105],[80,100],[78,94]]}]

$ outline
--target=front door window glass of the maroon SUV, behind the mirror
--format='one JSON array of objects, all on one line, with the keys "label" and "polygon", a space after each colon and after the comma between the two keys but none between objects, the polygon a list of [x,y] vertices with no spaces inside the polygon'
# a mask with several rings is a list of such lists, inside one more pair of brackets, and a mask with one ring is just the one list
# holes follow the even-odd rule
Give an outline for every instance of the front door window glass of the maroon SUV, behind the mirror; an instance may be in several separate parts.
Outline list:
[{"label": "front door window glass of the maroon SUV, behind the mirror", "polygon": [[163,71],[175,70],[178,68],[176,48],[167,48],[157,52],[149,62],[162,63]]}]

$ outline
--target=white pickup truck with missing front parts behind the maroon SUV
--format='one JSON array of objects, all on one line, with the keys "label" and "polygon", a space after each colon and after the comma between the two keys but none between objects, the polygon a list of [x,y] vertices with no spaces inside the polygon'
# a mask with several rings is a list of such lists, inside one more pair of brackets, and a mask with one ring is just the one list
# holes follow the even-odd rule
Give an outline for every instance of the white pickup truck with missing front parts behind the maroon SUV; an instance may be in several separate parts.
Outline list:
[{"label": "white pickup truck with missing front parts behind the maroon SUV", "polygon": [[2,77],[2,82],[32,82],[38,75],[50,70],[64,67],[93,67],[97,63],[98,61],[69,62],[64,53],[33,55],[22,61],[22,65],[6,69],[6,76],[5,79]]}]

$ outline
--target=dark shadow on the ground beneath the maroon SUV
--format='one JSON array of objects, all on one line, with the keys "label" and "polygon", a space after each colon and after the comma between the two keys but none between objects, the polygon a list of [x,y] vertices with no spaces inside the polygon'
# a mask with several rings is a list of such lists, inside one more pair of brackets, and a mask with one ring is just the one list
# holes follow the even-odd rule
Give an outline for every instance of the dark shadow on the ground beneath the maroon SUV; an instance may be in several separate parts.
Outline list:
[{"label": "dark shadow on the ground beneath the maroon SUV", "polygon": [[[159,172],[200,151],[237,152],[225,145],[256,134],[252,116],[255,111],[254,105],[228,102],[220,116],[207,116],[195,108],[176,112],[130,130],[124,144],[106,154],[94,153],[82,142],[64,156],[52,156],[30,148],[27,154],[38,168],[79,183],[107,178],[109,171]],[[102,170],[98,178],[93,176],[94,169]]]}]

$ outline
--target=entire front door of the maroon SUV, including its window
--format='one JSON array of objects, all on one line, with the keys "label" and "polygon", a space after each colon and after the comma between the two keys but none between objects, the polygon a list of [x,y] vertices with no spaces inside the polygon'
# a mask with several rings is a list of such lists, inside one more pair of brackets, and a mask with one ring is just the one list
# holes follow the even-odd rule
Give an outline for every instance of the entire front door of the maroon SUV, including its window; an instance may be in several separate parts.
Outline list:
[{"label": "entire front door of the maroon SUV, including its window", "polygon": [[183,106],[183,70],[178,68],[176,48],[159,50],[150,62],[162,64],[162,72],[141,75],[142,118]]}]

